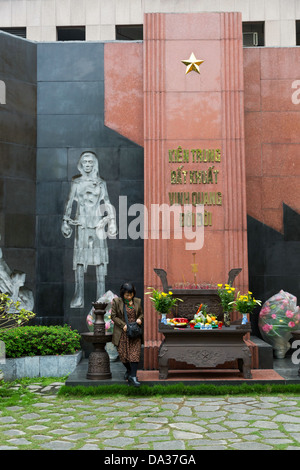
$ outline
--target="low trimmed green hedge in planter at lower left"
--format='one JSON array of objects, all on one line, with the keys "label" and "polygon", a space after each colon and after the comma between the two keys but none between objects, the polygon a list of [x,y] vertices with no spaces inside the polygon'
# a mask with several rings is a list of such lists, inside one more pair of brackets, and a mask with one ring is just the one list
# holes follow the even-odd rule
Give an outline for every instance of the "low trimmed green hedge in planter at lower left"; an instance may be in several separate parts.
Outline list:
[{"label": "low trimmed green hedge in planter at lower left", "polygon": [[75,354],[81,349],[80,334],[64,326],[21,326],[0,329],[6,358]]}]

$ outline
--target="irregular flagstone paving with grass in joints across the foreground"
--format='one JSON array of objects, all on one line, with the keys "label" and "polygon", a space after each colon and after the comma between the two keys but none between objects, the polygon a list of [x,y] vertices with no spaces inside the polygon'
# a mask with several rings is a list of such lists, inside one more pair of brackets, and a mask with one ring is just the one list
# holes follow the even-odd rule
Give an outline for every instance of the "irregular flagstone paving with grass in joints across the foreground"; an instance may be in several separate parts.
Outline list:
[{"label": "irregular flagstone paving with grass in joints across the foreground", "polygon": [[300,396],[59,397],[0,412],[0,450],[300,450]]}]

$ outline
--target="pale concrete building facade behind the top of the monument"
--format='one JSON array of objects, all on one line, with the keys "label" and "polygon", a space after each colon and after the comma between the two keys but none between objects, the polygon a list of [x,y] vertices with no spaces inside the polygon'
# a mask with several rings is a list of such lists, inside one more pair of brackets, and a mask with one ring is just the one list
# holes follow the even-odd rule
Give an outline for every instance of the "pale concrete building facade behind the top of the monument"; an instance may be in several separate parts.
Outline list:
[{"label": "pale concrete building facade behind the top of the monument", "polygon": [[298,0],[2,0],[0,27],[26,26],[27,37],[56,41],[56,26],[86,26],[86,39],[114,40],[115,25],[142,24],[144,13],[238,11],[265,21],[266,46],[295,46]]}]

